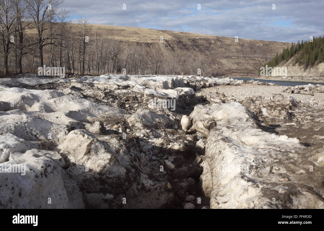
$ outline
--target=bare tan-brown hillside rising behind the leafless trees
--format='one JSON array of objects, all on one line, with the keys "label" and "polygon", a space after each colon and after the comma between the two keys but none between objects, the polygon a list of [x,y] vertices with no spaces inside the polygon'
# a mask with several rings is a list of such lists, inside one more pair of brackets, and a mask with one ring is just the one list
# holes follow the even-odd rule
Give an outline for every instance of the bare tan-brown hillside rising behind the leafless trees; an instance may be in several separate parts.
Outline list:
[{"label": "bare tan-brown hillside rising behind the leafless trees", "polygon": [[[117,40],[142,43],[151,50],[158,49],[164,57],[192,54],[210,59],[219,74],[257,74],[261,64],[280,53],[291,43],[262,41],[234,37],[202,35],[189,32],[155,30],[140,27],[91,25],[92,33],[106,32]],[[163,42],[160,37],[163,36]]]}]

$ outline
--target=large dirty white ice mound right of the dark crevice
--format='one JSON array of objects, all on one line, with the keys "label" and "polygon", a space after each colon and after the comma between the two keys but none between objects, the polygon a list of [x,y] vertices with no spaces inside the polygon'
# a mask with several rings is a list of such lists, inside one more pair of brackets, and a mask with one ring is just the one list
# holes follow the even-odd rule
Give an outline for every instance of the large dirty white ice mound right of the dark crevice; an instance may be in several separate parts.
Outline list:
[{"label": "large dirty white ice mound right of the dark crevice", "polygon": [[[287,195],[292,208],[324,205],[320,196],[293,182],[289,163],[305,148],[298,139],[262,131],[239,103],[196,107],[190,117],[207,137],[201,178],[211,208],[284,208]],[[216,126],[202,128],[206,121]]]}]

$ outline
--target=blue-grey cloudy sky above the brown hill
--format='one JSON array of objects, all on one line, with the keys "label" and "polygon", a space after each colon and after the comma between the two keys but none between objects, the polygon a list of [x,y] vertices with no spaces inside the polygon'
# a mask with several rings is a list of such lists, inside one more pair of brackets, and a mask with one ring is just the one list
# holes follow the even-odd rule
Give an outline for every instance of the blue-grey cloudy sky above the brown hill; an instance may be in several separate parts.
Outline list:
[{"label": "blue-grey cloudy sky above the brown hill", "polygon": [[91,24],[279,42],[324,35],[324,0],[65,0],[61,7]]}]

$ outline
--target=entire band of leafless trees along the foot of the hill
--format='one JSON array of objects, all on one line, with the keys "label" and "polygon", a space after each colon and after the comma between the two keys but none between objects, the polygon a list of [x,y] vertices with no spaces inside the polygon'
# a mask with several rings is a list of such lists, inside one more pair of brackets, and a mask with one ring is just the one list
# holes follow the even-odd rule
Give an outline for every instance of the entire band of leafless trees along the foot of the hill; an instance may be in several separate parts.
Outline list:
[{"label": "entire band of leafless trees along the foot of the hill", "polygon": [[159,44],[127,42],[95,31],[87,18],[77,24],[59,9],[61,0],[0,0],[3,74],[65,67],[72,74],[219,75],[214,60],[188,52],[170,57]]}]

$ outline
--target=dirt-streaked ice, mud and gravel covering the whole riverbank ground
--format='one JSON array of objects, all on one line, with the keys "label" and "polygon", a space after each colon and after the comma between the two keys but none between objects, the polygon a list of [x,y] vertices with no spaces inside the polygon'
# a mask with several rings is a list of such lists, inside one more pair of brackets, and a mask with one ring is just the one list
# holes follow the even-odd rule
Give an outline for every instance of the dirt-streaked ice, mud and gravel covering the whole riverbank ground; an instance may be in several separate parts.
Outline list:
[{"label": "dirt-streaked ice, mud and gravel covering the whole riverbank ground", "polygon": [[323,92],[200,76],[0,79],[0,208],[324,208]]}]

